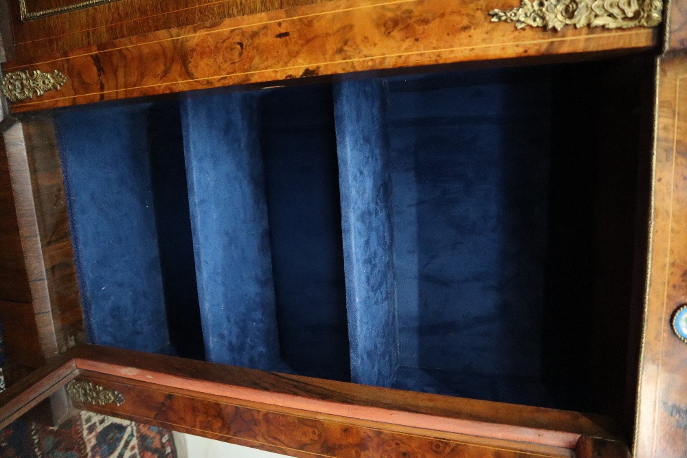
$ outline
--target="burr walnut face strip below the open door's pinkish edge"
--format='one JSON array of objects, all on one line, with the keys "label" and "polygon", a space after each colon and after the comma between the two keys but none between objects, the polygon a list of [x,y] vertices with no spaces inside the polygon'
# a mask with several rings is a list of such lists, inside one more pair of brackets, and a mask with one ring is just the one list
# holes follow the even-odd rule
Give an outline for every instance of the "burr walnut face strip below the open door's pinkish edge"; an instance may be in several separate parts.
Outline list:
[{"label": "burr walnut face strip below the open door's pinkish edge", "polygon": [[[393,428],[377,422],[313,411],[275,409],[197,391],[169,391],[153,383],[126,382],[121,377],[82,371],[80,379],[114,389],[124,403],[82,409],[172,428],[194,435],[261,448],[295,457],[571,457],[572,450],[447,435],[419,428]],[[404,431],[405,430],[405,431]]]}]

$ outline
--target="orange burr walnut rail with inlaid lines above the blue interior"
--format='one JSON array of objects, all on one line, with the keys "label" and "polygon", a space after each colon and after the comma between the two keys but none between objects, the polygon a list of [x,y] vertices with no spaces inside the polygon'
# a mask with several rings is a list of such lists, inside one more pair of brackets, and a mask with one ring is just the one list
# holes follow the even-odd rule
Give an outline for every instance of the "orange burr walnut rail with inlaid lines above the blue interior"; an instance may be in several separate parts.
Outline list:
[{"label": "orange burr walnut rail with inlaid lines above the blue interior", "polygon": [[[506,3],[506,4],[503,4]],[[513,0],[499,2],[507,7]],[[449,64],[657,45],[657,30],[567,27],[561,32],[491,23],[493,0],[333,0],[291,10],[123,38],[5,71],[58,69],[59,91],[15,102],[14,112],[236,84],[278,82]]]}]

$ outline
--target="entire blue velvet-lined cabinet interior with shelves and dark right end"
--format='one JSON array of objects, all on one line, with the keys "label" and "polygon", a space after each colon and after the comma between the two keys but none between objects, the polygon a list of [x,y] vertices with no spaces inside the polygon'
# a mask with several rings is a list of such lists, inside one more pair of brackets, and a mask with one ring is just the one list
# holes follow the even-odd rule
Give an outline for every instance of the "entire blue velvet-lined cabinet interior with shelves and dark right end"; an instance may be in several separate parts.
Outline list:
[{"label": "entire blue velvet-lined cabinet interior with shelves and dark right end", "polygon": [[652,78],[631,56],[54,111],[89,341],[622,417]]}]

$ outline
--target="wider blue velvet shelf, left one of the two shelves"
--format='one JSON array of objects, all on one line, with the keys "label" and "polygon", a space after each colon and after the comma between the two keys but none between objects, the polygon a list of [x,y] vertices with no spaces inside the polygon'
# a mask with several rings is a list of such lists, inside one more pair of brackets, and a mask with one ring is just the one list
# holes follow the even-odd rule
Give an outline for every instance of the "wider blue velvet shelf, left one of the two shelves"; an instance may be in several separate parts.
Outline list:
[{"label": "wider blue velvet shelf, left one of the two shelves", "polygon": [[181,101],[205,357],[280,363],[256,98],[188,94]]}]

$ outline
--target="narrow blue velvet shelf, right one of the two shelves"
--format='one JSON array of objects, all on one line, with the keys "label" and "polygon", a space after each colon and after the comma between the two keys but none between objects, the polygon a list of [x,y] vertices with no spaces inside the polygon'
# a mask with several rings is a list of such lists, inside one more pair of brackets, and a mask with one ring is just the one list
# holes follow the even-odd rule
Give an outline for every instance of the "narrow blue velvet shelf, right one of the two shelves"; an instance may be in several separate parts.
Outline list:
[{"label": "narrow blue velvet shelf, right one of the two shelves", "polygon": [[379,80],[335,84],[351,380],[389,386],[398,367],[390,176]]}]

